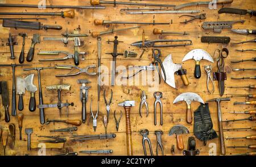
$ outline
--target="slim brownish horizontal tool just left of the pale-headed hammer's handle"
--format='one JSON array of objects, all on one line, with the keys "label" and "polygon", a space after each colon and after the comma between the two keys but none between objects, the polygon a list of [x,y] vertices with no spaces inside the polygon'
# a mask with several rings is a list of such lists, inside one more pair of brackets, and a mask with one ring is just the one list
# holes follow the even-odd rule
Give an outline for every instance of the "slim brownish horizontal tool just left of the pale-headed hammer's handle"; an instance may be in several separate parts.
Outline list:
[{"label": "slim brownish horizontal tool just left of the pale-headed hammer's handle", "polygon": [[75,135],[72,136],[73,141],[86,141],[86,140],[97,140],[97,139],[113,139],[117,135],[115,134],[100,134],[100,135]]}]

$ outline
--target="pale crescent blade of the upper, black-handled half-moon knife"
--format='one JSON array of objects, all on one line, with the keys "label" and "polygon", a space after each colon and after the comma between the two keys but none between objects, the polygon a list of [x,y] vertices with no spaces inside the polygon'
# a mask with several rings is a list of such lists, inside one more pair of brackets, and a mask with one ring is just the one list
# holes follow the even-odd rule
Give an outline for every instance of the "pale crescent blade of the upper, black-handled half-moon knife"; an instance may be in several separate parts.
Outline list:
[{"label": "pale crescent blade of the upper, black-handled half-moon knife", "polygon": [[203,49],[193,49],[188,52],[185,57],[182,59],[182,62],[187,61],[188,59],[195,59],[195,61],[199,62],[201,59],[205,59],[210,62],[214,62],[213,58]]}]

